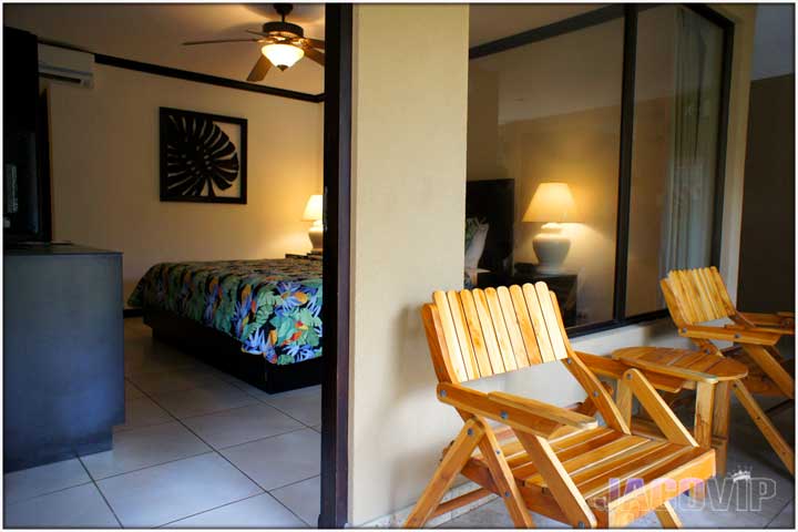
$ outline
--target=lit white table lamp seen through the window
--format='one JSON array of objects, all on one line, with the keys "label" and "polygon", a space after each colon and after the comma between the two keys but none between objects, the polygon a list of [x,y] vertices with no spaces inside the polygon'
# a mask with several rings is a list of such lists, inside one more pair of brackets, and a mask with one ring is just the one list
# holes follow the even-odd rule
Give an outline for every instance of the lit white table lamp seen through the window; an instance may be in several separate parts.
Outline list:
[{"label": "lit white table lamp seen through the window", "polygon": [[557,274],[567,256],[571,241],[562,234],[562,225],[576,222],[576,204],[565,183],[541,183],[532,196],[523,222],[542,222],[541,232],[532,239],[538,255],[538,272]]}]

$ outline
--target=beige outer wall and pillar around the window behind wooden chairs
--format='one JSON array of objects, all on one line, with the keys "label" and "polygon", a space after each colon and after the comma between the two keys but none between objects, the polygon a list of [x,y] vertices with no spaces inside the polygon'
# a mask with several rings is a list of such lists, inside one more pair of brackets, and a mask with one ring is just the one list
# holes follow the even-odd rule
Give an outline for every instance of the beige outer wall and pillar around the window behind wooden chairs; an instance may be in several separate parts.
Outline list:
[{"label": "beige outer wall and pillar around the window behind wooden chairs", "polygon": [[[740,22],[730,112],[732,127],[739,127],[747,116],[755,8],[723,9]],[[418,309],[432,289],[462,283],[468,17],[458,6],[358,6],[355,12],[350,523],[358,525],[409,507],[460,426],[453,410],[434,400]],[[420,39],[392,44],[409,25],[420,27]],[[739,209],[741,166],[733,163],[745,154],[745,127],[729,135],[726,211]],[[722,266],[738,252],[739,225],[728,216]],[[607,355],[685,341],[661,320],[573,345]],[[584,397],[553,365],[475,386],[557,405]]]}]

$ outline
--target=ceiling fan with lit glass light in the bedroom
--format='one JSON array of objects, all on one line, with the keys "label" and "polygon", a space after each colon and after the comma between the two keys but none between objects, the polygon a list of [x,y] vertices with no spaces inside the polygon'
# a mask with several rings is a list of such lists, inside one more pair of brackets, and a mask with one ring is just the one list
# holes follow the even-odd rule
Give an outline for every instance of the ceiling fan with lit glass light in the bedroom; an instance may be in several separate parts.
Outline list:
[{"label": "ceiling fan with lit glass light in the bedroom", "polygon": [[301,25],[286,22],[285,18],[291,12],[294,6],[290,3],[275,3],[275,11],[283,20],[279,22],[266,22],[263,31],[246,30],[247,33],[258,35],[257,39],[221,39],[215,41],[190,41],[184,45],[194,44],[217,44],[221,42],[257,42],[260,48],[260,58],[247,76],[247,81],[260,81],[266,76],[272,65],[279,70],[293,66],[301,58],[307,57],[311,61],[324,66],[325,54],[319,50],[325,49],[324,41],[305,37]]}]

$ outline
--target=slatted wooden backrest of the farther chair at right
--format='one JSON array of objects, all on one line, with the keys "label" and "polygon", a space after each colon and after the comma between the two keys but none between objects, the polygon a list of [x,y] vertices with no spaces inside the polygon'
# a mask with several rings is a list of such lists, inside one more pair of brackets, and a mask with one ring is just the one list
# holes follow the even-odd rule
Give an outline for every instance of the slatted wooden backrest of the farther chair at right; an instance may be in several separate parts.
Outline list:
[{"label": "slatted wooden backrest of the farther chair at right", "polygon": [[723,277],[715,266],[675,269],[659,284],[671,316],[679,327],[737,314]]}]

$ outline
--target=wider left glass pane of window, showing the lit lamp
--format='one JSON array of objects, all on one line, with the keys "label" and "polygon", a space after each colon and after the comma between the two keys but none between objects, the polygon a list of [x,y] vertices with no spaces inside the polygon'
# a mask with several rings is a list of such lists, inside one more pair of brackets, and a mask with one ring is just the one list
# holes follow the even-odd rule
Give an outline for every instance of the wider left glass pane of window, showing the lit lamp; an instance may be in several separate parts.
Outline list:
[{"label": "wider left glass pane of window, showing the lit lamp", "polygon": [[489,225],[477,284],[545,280],[566,326],[612,319],[623,28],[618,18],[470,62],[467,216]]}]

